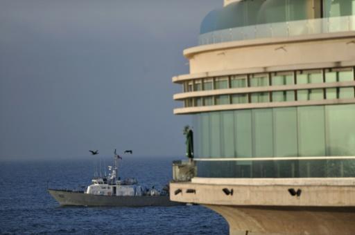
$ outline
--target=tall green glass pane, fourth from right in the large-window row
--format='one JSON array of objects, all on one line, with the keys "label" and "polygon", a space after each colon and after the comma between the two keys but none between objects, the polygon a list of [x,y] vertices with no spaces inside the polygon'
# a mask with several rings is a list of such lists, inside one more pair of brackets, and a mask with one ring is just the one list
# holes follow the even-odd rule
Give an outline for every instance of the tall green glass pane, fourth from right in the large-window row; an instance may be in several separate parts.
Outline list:
[{"label": "tall green glass pane, fourth from right in the large-window row", "polygon": [[253,146],[256,157],[272,157],[274,155],[272,141],[272,109],[255,109],[253,115]]}]

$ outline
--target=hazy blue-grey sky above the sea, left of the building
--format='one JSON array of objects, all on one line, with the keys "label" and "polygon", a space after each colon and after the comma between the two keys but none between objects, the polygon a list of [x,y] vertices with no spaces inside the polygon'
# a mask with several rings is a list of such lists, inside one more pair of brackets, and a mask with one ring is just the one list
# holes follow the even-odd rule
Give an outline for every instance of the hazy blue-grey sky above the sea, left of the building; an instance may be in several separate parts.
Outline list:
[{"label": "hazy blue-grey sky above the sea, left of the building", "polygon": [[0,160],[184,154],[182,50],[223,0],[0,0]]}]

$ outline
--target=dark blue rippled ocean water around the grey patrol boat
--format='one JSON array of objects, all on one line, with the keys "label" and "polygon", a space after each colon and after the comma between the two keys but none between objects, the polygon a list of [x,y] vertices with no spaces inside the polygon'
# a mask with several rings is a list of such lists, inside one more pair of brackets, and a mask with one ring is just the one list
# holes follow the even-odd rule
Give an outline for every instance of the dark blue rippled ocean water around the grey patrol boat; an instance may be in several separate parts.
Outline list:
[{"label": "dark blue rippled ocean water around the grey patrol boat", "polygon": [[[47,186],[89,185],[93,159],[0,162],[0,234],[228,234],[222,216],[197,205],[60,207]],[[171,180],[172,160],[125,157],[119,174],[162,188]]]}]

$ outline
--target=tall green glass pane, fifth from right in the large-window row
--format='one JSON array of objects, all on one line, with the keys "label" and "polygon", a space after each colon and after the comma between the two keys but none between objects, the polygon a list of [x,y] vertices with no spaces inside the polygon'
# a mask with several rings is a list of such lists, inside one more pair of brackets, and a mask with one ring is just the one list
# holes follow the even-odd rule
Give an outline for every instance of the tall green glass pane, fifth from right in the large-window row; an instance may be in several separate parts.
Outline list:
[{"label": "tall green glass pane, fifth from right in the large-window row", "polygon": [[[252,156],[252,111],[234,111],[234,137],[236,157]],[[245,163],[245,164],[248,164]]]}]

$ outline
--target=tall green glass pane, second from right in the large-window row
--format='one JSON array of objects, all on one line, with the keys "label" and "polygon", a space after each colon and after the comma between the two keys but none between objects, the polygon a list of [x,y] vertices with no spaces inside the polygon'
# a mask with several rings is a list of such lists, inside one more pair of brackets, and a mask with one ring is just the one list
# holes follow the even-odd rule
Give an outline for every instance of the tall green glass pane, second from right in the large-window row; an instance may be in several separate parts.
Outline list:
[{"label": "tall green glass pane, second from right in the large-window row", "polygon": [[325,156],[324,106],[298,107],[298,153]]}]

